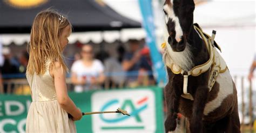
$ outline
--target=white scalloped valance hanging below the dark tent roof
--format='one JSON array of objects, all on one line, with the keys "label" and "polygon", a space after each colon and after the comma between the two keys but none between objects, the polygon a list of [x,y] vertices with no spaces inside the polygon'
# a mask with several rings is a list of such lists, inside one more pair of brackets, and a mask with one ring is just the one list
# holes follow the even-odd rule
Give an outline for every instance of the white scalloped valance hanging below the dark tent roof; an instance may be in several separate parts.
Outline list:
[{"label": "white scalloped valance hanging below the dark tent roof", "polygon": [[[116,40],[126,42],[129,39],[141,40],[145,37],[145,32],[141,28],[122,29],[121,31],[103,31],[103,32],[75,32],[69,36],[69,43],[76,41],[87,43],[100,43],[103,40],[107,43],[112,43]],[[4,46],[14,42],[16,45],[23,45],[24,42],[29,42],[30,34],[0,34],[0,39]]]}]

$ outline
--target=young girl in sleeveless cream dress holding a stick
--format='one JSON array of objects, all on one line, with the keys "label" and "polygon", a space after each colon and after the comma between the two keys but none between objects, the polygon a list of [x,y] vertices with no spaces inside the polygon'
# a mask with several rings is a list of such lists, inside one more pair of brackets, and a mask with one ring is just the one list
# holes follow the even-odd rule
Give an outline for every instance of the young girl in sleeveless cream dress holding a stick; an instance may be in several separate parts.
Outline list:
[{"label": "young girl in sleeveless cream dress holding a stick", "polygon": [[26,132],[76,132],[74,121],[80,120],[82,113],[68,96],[68,68],[62,56],[70,33],[69,20],[53,10],[39,12],[33,21],[26,71],[32,103]]}]

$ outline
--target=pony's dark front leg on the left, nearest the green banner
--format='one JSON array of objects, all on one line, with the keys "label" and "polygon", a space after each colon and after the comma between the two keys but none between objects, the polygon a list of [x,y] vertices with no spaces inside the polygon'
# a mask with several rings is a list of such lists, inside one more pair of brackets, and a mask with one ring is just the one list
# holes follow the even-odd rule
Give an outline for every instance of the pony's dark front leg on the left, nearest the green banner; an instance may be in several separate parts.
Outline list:
[{"label": "pony's dark front leg on the left, nearest the green banner", "polygon": [[174,131],[176,129],[180,95],[180,91],[175,89],[170,83],[165,86],[165,100],[167,106],[165,132]]}]

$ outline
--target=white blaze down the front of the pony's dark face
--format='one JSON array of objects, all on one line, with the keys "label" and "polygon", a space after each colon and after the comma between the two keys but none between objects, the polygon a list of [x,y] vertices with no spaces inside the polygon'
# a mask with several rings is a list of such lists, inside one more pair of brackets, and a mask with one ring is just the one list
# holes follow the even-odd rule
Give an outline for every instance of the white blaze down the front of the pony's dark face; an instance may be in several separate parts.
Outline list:
[{"label": "white blaze down the front of the pony's dark face", "polygon": [[[181,36],[183,36],[183,31],[181,29],[181,26],[179,24],[179,18],[174,14],[173,8],[170,7],[168,4],[164,5],[164,10],[167,13],[168,20],[169,18],[174,22],[175,24],[175,32],[176,36],[175,39],[177,42],[179,42],[181,39]],[[167,24],[168,21],[166,21]]]}]

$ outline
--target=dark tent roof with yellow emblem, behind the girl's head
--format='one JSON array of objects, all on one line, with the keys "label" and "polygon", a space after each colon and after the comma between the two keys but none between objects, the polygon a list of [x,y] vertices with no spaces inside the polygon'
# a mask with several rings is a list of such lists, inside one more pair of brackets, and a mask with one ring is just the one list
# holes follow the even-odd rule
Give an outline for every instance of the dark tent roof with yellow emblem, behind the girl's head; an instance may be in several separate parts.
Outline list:
[{"label": "dark tent roof with yellow emblem, behind the girl's head", "polygon": [[[75,32],[141,27],[137,21],[118,14],[101,1],[42,0],[40,2],[0,1],[0,33],[29,33],[36,14],[50,7],[66,14]],[[34,5],[29,7],[31,3]]]}]

